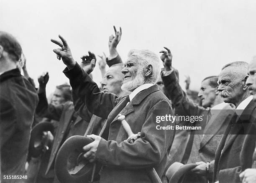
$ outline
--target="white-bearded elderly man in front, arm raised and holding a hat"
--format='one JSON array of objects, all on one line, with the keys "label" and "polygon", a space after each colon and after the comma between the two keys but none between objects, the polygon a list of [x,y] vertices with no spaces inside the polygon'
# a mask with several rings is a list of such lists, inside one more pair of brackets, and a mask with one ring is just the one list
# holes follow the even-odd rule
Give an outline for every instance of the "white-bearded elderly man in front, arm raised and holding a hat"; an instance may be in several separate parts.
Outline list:
[{"label": "white-bearded elderly man in front, arm raised and holding a hat", "polygon": [[[88,135],[94,141],[83,147],[85,158],[102,163],[100,182],[148,183],[152,177],[148,170],[153,168],[161,177],[175,131],[156,130],[156,126],[174,126],[175,122],[156,123],[156,116],[173,115],[169,99],[155,85],[161,71],[158,56],[148,50],[129,53],[122,70],[125,78],[122,89],[131,94],[118,98],[100,91],[74,61],[67,41],[59,38],[62,42],[51,40],[61,46],[54,49],[54,53],[67,65],[64,74],[72,89],[93,114],[107,119],[102,135]],[[133,133],[141,132],[141,137],[133,143],[127,141],[128,135],[117,119],[118,114],[125,116]]]}]

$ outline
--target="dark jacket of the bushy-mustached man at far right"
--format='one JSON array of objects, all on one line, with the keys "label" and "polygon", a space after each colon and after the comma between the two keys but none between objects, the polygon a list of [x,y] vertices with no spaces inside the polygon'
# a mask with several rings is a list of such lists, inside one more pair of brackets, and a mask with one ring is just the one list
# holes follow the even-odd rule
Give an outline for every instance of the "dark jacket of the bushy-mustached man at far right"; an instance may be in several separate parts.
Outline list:
[{"label": "dark jacket of the bushy-mustached man at far right", "polygon": [[213,180],[238,183],[239,174],[251,168],[256,139],[256,102],[251,101],[241,117],[234,117],[225,131],[215,155]]}]

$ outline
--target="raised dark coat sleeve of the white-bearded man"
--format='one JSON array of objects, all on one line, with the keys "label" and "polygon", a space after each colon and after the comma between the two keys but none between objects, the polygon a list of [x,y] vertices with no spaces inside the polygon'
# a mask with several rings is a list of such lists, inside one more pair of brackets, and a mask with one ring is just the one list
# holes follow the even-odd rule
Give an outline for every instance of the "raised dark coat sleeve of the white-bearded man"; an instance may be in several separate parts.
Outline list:
[{"label": "raised dark coat sleeve of the white-bearded man", "polygon": [[69,78],[72,89],[84,101],[88,110],[98,117],[107,119],[108,114],[118,103],[118,97],[112,93],[100,91],[97,84],[76,63],[73,69],[64,69],[64,74]]}]

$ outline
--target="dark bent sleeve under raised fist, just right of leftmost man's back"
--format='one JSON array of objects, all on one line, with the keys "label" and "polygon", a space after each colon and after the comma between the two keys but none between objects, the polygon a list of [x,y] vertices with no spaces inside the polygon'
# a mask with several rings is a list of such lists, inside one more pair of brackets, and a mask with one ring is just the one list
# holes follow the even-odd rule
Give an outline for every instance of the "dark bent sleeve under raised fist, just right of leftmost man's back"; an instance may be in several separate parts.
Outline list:
[{"label": "dark bent sleeve under raised fist, just right of leftmost man's back", "polygon": [[39,102],[36,107],[36,114],[40,117],[48,117],[50,119],[59,121],[61,113],[64,109],[64,104],[61,104],[60,106],[48,104],[45,92],[38,94],[38,98]]}]

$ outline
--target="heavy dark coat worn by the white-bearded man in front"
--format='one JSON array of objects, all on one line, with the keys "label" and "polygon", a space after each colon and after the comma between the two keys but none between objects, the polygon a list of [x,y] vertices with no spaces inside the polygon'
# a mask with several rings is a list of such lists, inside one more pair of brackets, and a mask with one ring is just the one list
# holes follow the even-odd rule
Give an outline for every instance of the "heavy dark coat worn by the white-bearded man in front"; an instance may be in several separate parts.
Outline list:
[{"label": "heavy dark coat worn by the white-bearded man in front", "polygon": [[[114,94],[100,91],[78,64],[71,70],[66,68],[64,73],[72,89],[85,99],[88,109],[107,118],[96,152],[96,160],[103,164],[100,182],[150,182],[145,168],[153,167],[161,176],[174,130],[156,130],[156,115],[173,114],[169,100],[157,86],[141,91],[126,106],[126,97],[118,99]],[[117,120],[118,114],[125,115],[134,133],[141,132],[141,138],[133,144],[124,141],[128,135]]]}]

